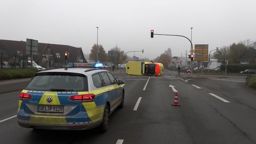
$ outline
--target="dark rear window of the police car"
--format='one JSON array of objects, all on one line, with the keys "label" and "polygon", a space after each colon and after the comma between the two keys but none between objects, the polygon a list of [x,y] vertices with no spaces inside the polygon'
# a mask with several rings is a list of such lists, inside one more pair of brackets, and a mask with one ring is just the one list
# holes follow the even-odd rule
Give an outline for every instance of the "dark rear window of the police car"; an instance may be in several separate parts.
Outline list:
[{"label": "dark rear window of the police car", "polygon": [[75,74],[39,74],[26,86],[25,90],[41,91],[87,91],[87,78]]}]

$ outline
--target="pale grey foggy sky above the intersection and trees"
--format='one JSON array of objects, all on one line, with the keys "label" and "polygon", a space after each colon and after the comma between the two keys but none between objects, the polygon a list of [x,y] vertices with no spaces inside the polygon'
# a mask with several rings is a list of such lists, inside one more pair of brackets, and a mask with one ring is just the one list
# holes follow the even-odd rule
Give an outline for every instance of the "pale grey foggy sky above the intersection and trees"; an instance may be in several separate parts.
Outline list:
[{"label": "pale grey foggy sky above the intersection and trees", "polygon": [[[171,48],[186,57],[190,42],[210,50],[256,40],[256,0],[1,0],[0,39],[82,47],[116,45],[139,58],[154,59]],[[191,27],[192,31],[191,31]],[[192,36],[191,36],[192,34]],[[212,54],[212,53],[211,53]],[[128,53],[133,56],[134,53]]]}]

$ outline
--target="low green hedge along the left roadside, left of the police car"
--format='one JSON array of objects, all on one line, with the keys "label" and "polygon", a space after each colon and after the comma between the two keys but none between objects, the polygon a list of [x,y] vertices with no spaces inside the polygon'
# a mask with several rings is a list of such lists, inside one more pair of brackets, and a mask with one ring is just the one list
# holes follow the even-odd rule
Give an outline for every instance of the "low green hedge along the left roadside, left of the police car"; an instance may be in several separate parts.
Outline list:
[{"label": "low green hedge along the left roadside, left of the police car", "polygon": [[25,69],[0,69],[0,80],[33,77],[37,72],[37,69],[33,67]]}]

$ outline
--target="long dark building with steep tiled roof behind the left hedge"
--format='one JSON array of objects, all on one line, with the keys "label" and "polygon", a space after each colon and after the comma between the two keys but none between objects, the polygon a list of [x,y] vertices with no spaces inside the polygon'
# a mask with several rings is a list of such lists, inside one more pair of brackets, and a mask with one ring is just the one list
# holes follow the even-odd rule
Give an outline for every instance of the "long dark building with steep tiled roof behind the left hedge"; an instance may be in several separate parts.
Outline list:
[{"label": "long dark building with steep tiled roof behind the left hedge", "polygon": [[[46,67],[48,54],[49,67],[62,67],[65,65],[65,52],[69,53],[68,63],[87,63],[82,48],[69,45],[38,43],[38,54],[33,55],[32,58],[37,64]],[[15,57],[18,60],[31,58],[31,54],[26,54],[26,41],[0,40],[0,61],[9,61]]]}]

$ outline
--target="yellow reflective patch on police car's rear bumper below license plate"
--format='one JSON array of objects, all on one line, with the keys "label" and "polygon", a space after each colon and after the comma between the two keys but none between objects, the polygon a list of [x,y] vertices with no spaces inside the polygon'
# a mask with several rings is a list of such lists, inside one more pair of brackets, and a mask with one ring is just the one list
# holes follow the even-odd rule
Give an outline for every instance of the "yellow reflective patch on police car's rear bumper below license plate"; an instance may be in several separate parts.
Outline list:
[{"label": "yellow reflective patch on police car's rear bumper below license plate", "polygon": [[67,125],[65,117],[42,117],[42,116],[31,116],[30,123],[47,123],[47,124],[59,124],[59,125]]}]

